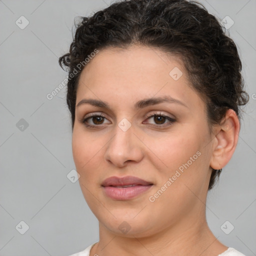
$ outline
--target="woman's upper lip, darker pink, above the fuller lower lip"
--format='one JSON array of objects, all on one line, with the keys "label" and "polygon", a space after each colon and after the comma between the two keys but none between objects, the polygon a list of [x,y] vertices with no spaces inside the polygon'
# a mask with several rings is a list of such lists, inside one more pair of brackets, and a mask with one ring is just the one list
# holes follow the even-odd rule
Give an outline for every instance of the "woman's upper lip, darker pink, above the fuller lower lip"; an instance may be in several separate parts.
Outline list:
[{"label": "woman's upper lip, darker pink, above the fuller lower lip", "polygon": [[115,186],[115,187],[128,187],[128,186],[135,186],[135,185],[151,185],[151,184],[152,182],[148,182],[134,176],[124,176],[124,177],[112,176],[112,177],[106,178],[101,185]]}]

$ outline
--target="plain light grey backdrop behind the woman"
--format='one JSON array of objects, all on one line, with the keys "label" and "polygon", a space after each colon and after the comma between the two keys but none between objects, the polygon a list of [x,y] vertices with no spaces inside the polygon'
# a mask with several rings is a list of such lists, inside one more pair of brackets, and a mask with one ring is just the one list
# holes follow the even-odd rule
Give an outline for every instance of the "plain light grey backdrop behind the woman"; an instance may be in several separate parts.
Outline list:
[{"label": "plain light grey backdrop behind the woman", "polygon": [[[256,0],[201,2],[220,19],[228,15],[234,21],[228,31],[238,46],[250,95],[235,153],[208,194],[207,221],[224,244],[256,255]],[[109,4],[0,0],[1,256],[65,256],[98,240],[97,219],[78,181],[66,176],[75,168],[66,87],[51,100],[46,94],[66,76],[58,57],[68,50],[74,17]],[[24,29],[15,24],[21,15],[29,20]],[[21,118],[28,123],[23,130]],[[15,228],[21,220],[29,226],[24,234]],[[220,228],[226,220],[234,226],[229,234]]]}]

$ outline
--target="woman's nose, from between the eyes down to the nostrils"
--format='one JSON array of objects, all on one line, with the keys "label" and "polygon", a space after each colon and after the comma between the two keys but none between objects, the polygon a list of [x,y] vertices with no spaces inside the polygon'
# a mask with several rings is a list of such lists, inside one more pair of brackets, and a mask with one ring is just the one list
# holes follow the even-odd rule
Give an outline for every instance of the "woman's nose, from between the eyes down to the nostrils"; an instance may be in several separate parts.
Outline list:
[{"label": "woman's nose, from between the eyes down to the nostrils", "polygon": [[132,126],[123,131],[116,125],[114,135],[106,146],[105,159],[108,162],[123,167],[129,161],[139,162],[143,158],[143,143],[133,132]]}]

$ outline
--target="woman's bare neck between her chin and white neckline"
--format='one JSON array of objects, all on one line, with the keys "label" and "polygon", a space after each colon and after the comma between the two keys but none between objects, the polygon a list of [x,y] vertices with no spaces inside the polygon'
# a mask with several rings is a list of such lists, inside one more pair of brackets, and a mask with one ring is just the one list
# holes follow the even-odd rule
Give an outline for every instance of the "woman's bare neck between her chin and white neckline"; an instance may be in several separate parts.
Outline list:
[{"label": "woman's bare neck between her chin and white neckline", "polygon": [[144,237],[120,236],[99,223],[99,242],[90,255],[217,256],[226,249],[210,231],[204,213],[201,218],[190,216],[186,221],[182,219],[182,223]]}]

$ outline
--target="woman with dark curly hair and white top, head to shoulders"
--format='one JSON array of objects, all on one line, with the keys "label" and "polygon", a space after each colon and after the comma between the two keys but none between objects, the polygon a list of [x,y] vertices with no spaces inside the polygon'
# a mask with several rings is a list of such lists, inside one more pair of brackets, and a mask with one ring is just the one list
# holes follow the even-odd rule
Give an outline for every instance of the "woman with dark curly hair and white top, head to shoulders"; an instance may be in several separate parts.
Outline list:
[{"label": "woman with dark curly hair and white top, head to shoulders", "polygon": [[76,27],[72,151],[99,241],[73,254],[243,255],[216,239],[207,191],[238,139],[241,61],[194,1],[113,3]]}]

